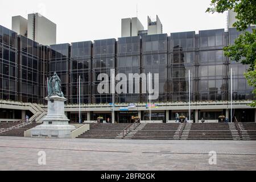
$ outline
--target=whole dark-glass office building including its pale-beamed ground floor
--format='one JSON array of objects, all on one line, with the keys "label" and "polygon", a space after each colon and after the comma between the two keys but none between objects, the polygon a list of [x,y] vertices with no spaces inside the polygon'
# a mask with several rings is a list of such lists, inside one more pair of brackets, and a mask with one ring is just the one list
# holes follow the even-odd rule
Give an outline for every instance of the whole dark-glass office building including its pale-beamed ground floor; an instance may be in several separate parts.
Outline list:
[{"label": "whole dark-glass office building including its pale-beamed ground floor", "polygon": [[[248,31],[251,28],[254,27]],[[99,116],[112,118],[113,94],[98,93],[101,80],[97,77],[106,73],[110,80],[110,69],[114,69],[115,75],[124,73],[127,78],[129,73],[159,73],[159,97],[151,101],[155,104],[151,120],[172,122],[175,113],[188,117],[189,71],[191,120],[218,122],[219,115],[231,120],[232,68],[233,118],[255,122],[256,111],[247,106],[254,100],[253,88],[243,76],[248,65],[229,60],[223,53],[223,48],[233,44],[239,34],[236,28],[229,28],[228,32],[176,32],[44,46],[0,26],[0,105],[7,104],[0,107],[0,118],[20,119],[24,112],[35,115],[28,109],[29,104],[45,110],[47,77],[53,72],[61,79],[61,89],[67,98],[65,111],[72,122],[79,121],[79,96],[82,121]],[[149,119],[148,93],[141,92],[141,85],[139,90],[114,94],[116,122],[132,122],[133,116]],[[135,107],[128,107],[129,104]]]}]

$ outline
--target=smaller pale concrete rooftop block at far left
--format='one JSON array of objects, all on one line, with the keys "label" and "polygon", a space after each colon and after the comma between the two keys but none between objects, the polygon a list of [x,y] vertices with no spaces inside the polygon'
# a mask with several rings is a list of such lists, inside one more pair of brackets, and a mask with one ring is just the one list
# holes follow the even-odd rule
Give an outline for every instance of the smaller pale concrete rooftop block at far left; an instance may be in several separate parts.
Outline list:
[{"label": "smaller pale concrete rooftop block at far left", "polygon": [[11,30],[17,32],[18,35],[25,36],[27,32],[27,19],[22,16],[13,16],[11,18]]}]

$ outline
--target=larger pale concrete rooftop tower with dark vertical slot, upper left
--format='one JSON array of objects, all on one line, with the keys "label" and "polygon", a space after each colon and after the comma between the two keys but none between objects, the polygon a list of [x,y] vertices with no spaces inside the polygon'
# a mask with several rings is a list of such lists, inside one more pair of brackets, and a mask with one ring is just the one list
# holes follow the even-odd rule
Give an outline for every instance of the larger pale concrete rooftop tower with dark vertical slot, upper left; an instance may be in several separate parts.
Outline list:
[{"label": "larger pale concrete rooftop tower with dark vertical slot, upper left", "polygon": [[56,24],[39,13],[28,14],[28,38],[45,46],[56,44]]}]

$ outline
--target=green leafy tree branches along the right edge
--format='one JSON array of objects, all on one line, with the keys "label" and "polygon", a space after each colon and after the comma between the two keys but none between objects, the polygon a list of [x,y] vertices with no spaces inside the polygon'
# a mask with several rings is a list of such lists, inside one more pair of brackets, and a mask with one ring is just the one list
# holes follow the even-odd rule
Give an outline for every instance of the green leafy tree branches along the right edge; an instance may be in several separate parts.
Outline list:
[{"label": "green leafy tree branches along the right edge", "polygon": [[[246,31],[250,24],[256,24],[256,0],[212,0],[206,12],[224,13],[227,10],[234,10],[237,13],[237,22],[233,26],[243,32],[233,45],[224,48],[224,55],[230,60],[250,65],[244,75],[248,84],[254,86],[253,93],[256,94],[256,30]],[[255,107],[256,101],[254,100],[250,106]]]}]

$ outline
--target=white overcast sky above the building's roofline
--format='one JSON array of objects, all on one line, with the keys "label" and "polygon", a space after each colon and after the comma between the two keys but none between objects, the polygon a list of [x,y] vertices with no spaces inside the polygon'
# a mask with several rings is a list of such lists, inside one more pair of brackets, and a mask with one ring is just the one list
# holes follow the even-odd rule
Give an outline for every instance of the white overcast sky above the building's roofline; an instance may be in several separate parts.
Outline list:
[{"label": "white overcast sky above the building's roofline", "polygon": [[163,33],[225,28],[226,14],[209,14],[210,0],[8,0],[0,2],[0,24],[11,16],[40,13],[57,24],[57,43],[118,38],[121,19],[137,16],[147,30],[147,15],[159,16]]}]

